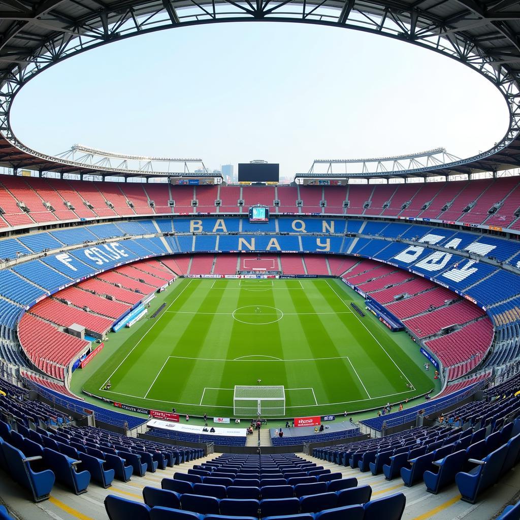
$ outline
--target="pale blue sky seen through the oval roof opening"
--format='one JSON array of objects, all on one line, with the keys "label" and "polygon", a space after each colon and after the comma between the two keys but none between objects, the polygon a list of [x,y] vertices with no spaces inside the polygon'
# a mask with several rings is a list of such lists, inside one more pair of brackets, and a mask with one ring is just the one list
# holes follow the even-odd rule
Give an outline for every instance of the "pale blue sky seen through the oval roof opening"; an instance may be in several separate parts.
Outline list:
[{"label": "pale blue sky seen through the oval roof opening", "polygon": [[443,146],[488,149],[505,101],[478,73],[391,38],[297,23],[216,23],[139,35],[44,71],[16,97],[17,137],[58,154],[103,150],[202,158],[210,168],[264,159],[281,176],[317,158]]}]

